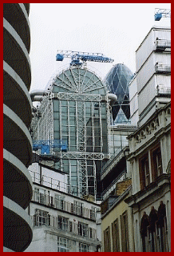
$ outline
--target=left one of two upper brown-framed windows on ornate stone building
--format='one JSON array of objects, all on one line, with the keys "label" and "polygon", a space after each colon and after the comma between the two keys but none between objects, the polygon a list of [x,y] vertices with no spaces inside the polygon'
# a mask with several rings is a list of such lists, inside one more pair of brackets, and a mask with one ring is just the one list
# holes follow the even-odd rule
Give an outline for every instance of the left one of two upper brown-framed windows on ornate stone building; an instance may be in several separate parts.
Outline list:
[{"label": "left one of two upper brown-framed windows on ornate stone building", "polygon": [[148,154],[140,159],[140,189],[150,184],[150,173],[148,165]]}]

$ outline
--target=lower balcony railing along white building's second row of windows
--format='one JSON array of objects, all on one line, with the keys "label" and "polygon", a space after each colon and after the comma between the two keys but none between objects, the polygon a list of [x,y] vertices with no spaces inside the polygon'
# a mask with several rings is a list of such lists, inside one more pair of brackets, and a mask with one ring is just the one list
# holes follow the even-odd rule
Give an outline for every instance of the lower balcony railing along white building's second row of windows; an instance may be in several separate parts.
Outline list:
[{"label": "lower balcony railing along white building's second row of windows", "polygon": [[69,232],[71,234],[77,234],[84,238],[97,239],[97,230],[93,228],[89,228],[86,226],[85,230],[81,230],[80,226],[73,221],[66,221],[64,223],[60,223],[57,216],[49,215],[42,217],[39,213],[30,216],[34,227],[39,226],[49,226],[53,227],[57,230],[61,230],[64,232]]}]

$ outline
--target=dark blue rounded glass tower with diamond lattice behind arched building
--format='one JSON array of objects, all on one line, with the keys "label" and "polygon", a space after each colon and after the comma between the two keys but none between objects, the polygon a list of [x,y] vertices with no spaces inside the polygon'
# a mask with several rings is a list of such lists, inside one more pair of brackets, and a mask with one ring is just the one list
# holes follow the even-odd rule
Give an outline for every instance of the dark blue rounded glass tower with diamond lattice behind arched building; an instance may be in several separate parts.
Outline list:
[{"label": "dark blue rounded glass tower with diamond lattice behind arched building", "polygon": [[117,95],[117,104],[113,105],[113,124],[129,122],[129,83],[132,77],[132,71],[120,63],[114,65],[105,77],[111,88],[110,92]]}]

